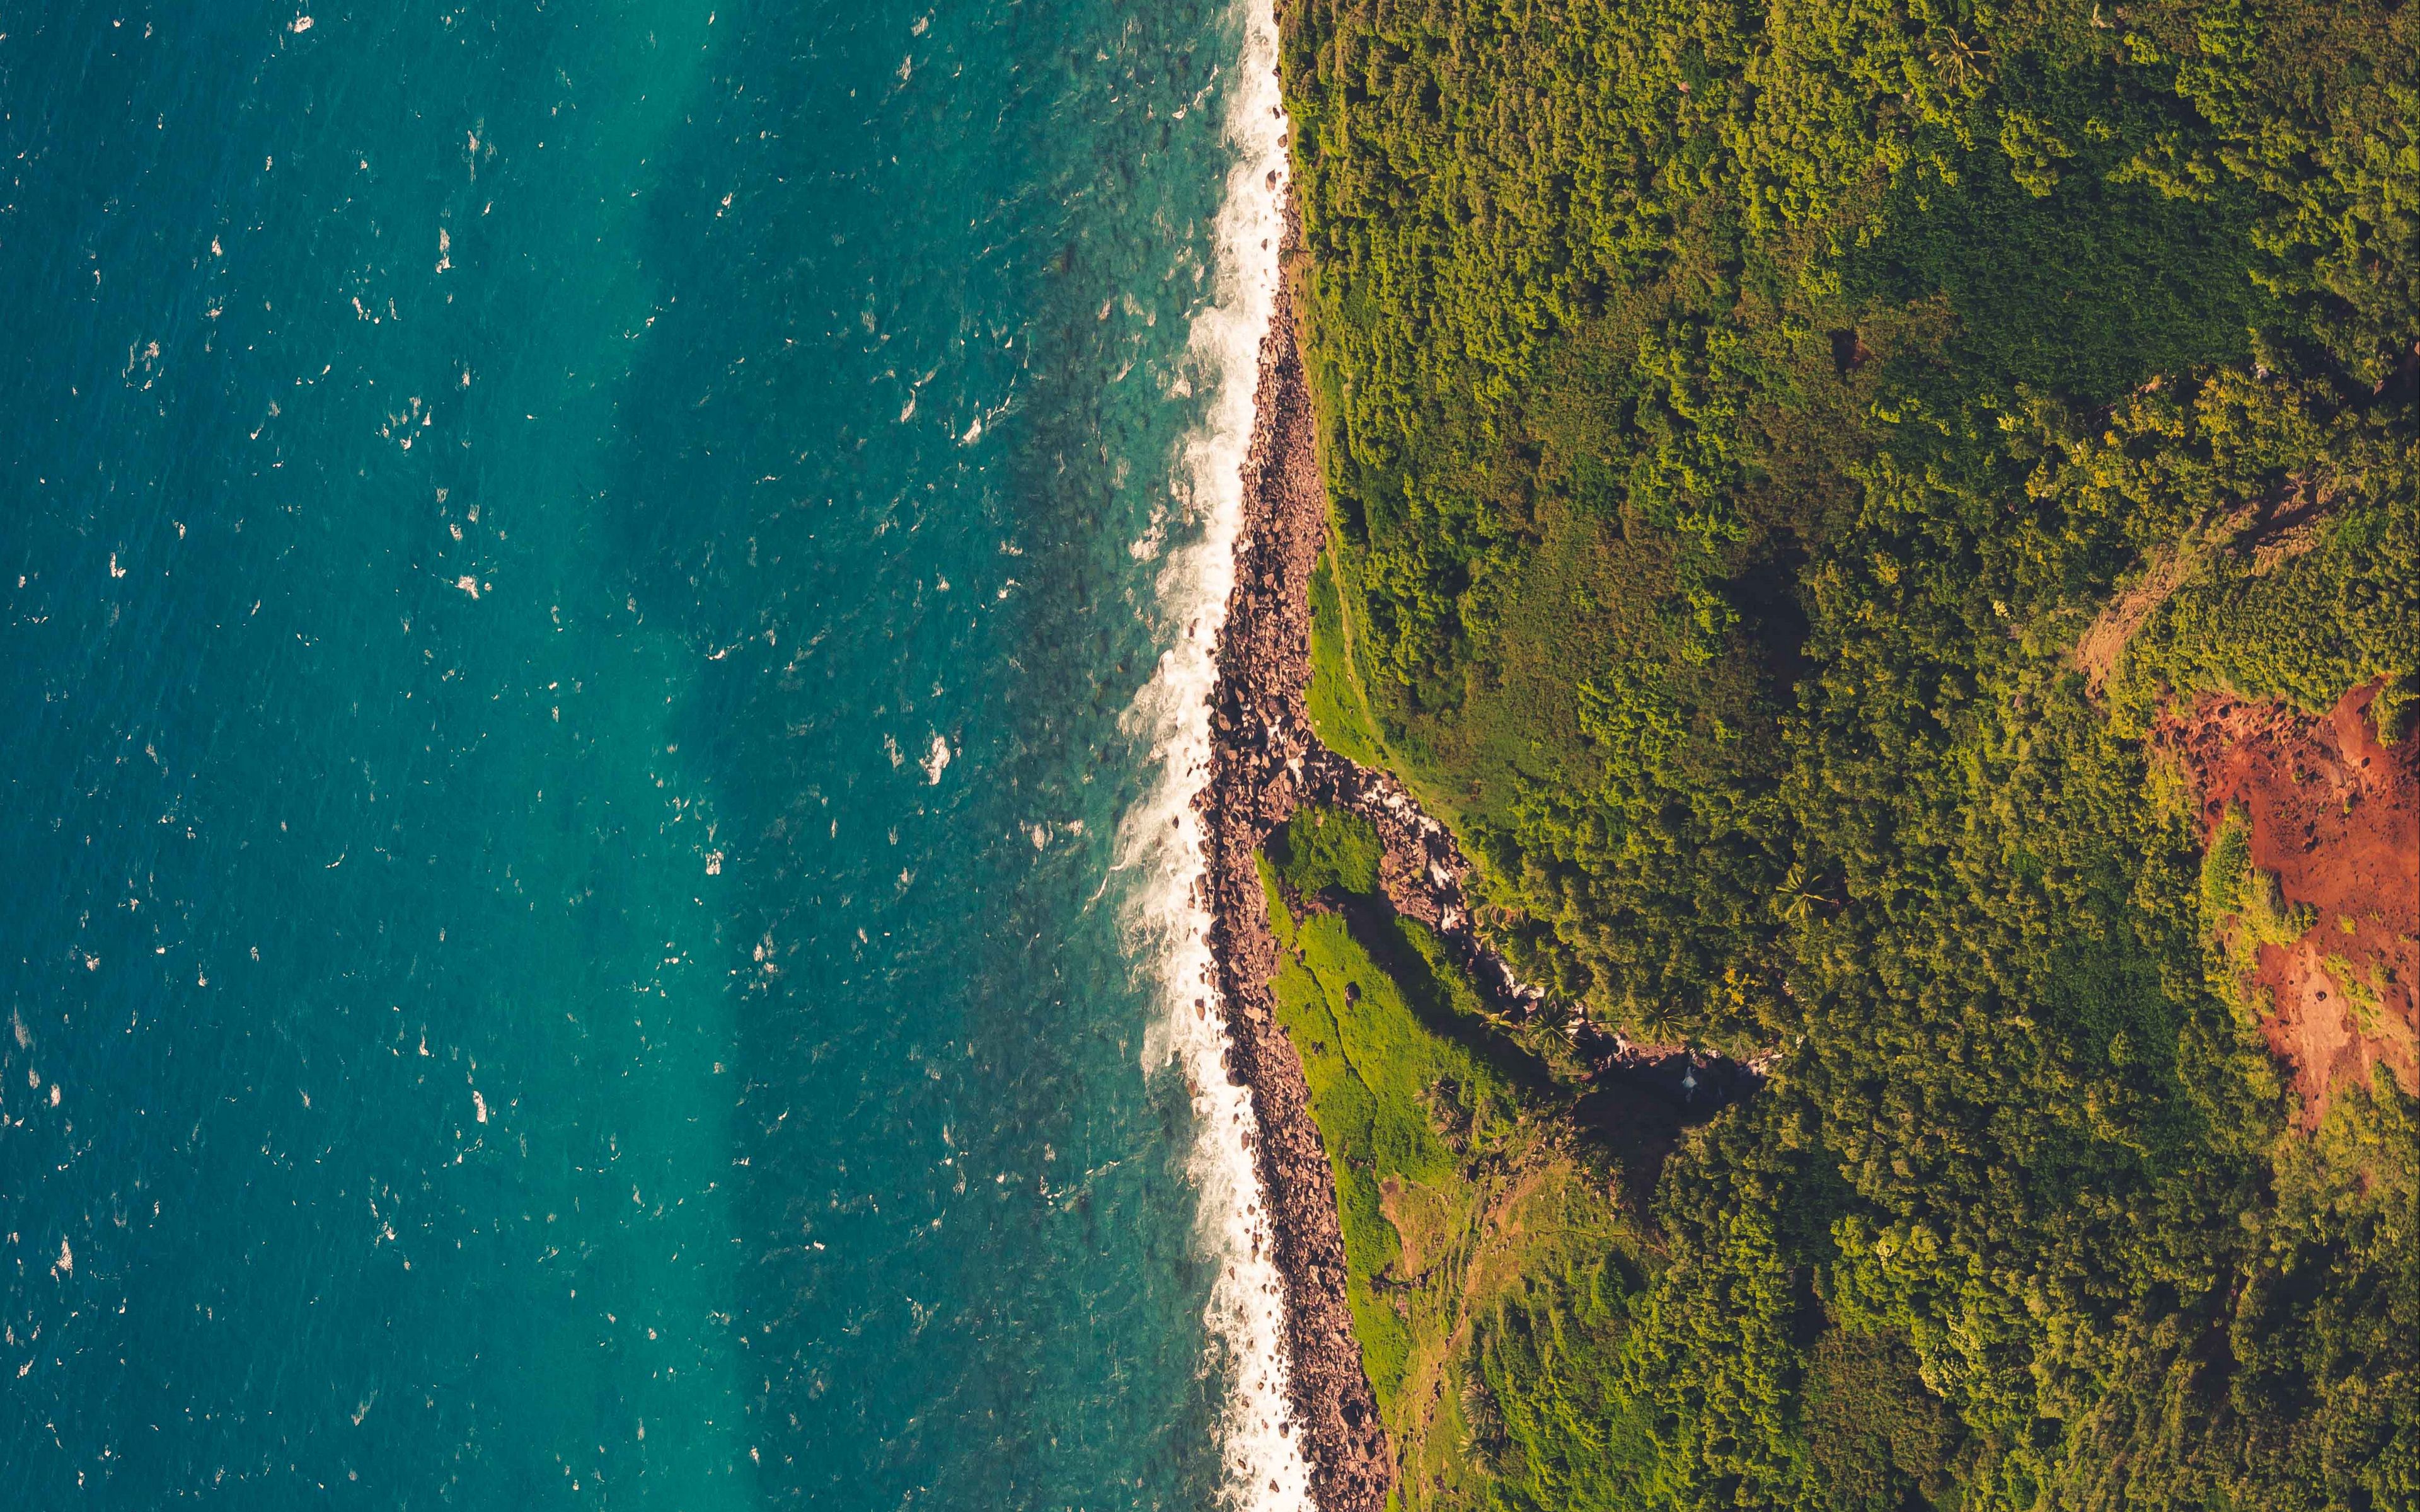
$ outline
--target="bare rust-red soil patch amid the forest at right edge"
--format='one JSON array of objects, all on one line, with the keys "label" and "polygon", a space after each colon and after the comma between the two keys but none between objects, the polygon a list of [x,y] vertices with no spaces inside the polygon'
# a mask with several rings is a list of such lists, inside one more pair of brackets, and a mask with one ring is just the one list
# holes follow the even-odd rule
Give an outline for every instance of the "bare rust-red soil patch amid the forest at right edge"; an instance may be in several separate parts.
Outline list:
[{"label": "bare rust-red soil patch amid the forest at right edge", "polygon": [[2159,728],[2200,786],[2205,844],[2241,803],[2253,866],[2318,910],[2294,943],[2260,946],[2251,980],[2311,1127],[2330,1089],[2379,1062],[2420,1091],[2420,738],[2381,748],[2376,694],[2357,687],[2323,719],[2205,694]]}]

